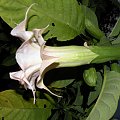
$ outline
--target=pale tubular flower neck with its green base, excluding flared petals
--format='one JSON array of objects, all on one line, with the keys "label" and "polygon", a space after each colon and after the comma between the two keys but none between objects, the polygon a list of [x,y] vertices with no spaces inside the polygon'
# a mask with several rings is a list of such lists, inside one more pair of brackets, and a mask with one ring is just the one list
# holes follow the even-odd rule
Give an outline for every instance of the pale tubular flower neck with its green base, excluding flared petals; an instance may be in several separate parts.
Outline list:
[{"label": "pale tubular flower neck with its green base, excluding flared petals", "polygon": [[64,46],[45,47],[50,56],[58,57],[58,67],[73,67],[90,63],[103,63],[120,60],[120,47]]}]

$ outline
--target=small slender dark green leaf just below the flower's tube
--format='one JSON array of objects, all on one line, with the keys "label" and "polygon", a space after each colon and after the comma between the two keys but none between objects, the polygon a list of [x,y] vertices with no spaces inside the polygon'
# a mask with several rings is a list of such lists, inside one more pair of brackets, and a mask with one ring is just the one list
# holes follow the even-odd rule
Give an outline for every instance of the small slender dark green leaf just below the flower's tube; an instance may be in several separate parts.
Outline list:
[{"label": "small slender dark green leaf just below the flower's tube", "polygon": [[57,80],[50,84],[50,87],[63,88],[71,84],[75,79]]}]

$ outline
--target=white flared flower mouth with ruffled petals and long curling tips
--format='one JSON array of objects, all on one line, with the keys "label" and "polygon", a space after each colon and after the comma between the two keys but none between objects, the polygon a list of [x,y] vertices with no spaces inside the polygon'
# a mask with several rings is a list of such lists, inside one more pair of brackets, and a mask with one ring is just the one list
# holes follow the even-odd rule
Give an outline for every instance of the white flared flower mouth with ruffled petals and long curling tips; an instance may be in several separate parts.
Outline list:
[{"label": "white flared flower mouth with ruffled petals and long curling tips", "polygon": [[35,86],[40,89],[45,89],[51,94],[58,96],[51,92],[43,83],[43,76],[45,72],[58,58],[49,56],[46,52],[45,55],[43,54],[45,41],[42,37],[42,33],[46,28],[26,31],[27,14],[31,6],[26,12],[25,19],[11,31],[11,35],[19,37],[23,43],[16,52],[16,61],[21,70],[11,72],[10,78],[20,81],[26,89],[31,89],[35,103]]}]

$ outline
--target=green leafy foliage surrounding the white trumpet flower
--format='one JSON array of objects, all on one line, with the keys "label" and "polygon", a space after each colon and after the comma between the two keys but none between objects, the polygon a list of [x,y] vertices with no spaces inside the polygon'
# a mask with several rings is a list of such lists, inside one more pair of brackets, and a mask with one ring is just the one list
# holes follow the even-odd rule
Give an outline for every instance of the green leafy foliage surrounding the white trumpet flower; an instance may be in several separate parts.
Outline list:
[{"label": "green leafy foliage surrounding the white trumpet flower", "polygon": [[[0,1],[0,119],[108,120],[113,117],[120,96],[120,65],[119,61],[111,61],[111,57],[120,56],[117,53],[112,56],[111,53],[114,46],[120,46],[120,18],[112,32],[105,36],[99,28],[95,9],[88,7],[92,4],[91,1],[80,3],[77,0],[34,0],[36,4],[30,9],[27,27],[31,30],[49,24],[44,34],[48,45],[83,46],[87,42],[87,47],[113,47],[108,50],[106,58],[106,53],[97,49],[104,58],[100,57],[100,62],[94,60],[89,65],[48,71],[44,78],[45,83],[63,97],[56,98],[43,90],[37,90],[35,105],[29,90],[23,90],[18,82],[10,80],[8,76],[8,72],[19,69],[14,56],[20,45],[18,38],[10,36],[10,27],[23,20],[33,1]],[[109,61],[104,62],[105,59]],[[91,68],[94,71],[88,71]],[[86,71],[90,72],[87,78],[84,76]],[[95,80],[94,84],[91,84],[92,80]]]}]

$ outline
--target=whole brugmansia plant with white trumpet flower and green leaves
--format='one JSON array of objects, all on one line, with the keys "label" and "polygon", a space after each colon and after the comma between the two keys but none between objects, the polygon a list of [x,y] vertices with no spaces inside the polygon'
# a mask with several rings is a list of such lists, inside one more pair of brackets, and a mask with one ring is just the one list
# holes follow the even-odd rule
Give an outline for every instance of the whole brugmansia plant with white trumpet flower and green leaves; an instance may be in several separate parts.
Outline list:
[{"label": "whole brugmansia plant with white trumpet flower and green leaves", "polygon": [[[28,14],[31,14],[31,19]],[[13,27],[11,35],[22,41],[16,51],[20,70],[10,72],[10,78],[18,80],[33,93],[33,99],[26,101],[14,90],[2,91],[1,118],[109,120],[113,117],[120,96],[120,66],[117,61],[120,59],[120,29],[116,27],[119,19],[106,37],[98,27],[95,13],[76,0],[34,0],[34,3],[30,0],[2,0],[0,15]],[[15,22],[19,24],[14,27]],[[45,41],[56,37],[65,42],[77,35],[89,36],[91,42],[86,37],[82,46],[48,46]],[[116,36],[117,39],[111,40],[110,37]],[[44,83],[46,74],[60,67],[80,69],[80,80],[56,80],[47,87]],[[51,96],[56,97],[53,99]]]}]

